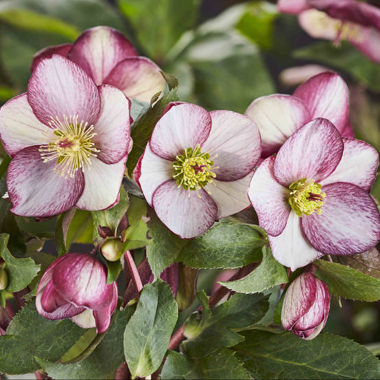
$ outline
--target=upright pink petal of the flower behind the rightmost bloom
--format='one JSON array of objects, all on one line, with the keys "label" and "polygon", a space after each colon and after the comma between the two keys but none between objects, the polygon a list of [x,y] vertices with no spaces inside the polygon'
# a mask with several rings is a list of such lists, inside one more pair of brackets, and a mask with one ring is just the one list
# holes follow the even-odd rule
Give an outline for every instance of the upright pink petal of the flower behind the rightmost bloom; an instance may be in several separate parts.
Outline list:
[{"label": "upright pink petal of the flower behind the rightmost bloom", "polygon": [[309,108],[311,119],[323,117],[340,133],[348,123],[348,87],[340,75],[320,73],[296,88],[293,93]]}]

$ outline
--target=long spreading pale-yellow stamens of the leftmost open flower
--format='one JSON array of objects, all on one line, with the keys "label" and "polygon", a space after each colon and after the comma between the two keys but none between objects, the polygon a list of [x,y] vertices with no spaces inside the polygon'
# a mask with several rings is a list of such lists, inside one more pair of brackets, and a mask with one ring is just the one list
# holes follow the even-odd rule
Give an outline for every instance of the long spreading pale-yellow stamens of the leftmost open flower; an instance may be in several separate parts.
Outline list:
[{"label": "long spreading pale-yellow stamens of the leftmost open flower", "polygon": [[92,142],[96,133],[94,126],[88,126],[83,120],[78,123],[78,115],[73,117],[63,116],[63,121],[51,117],[49,126],[54,129],[57,139],[47,145],[41,145],[39,152],[44,163],[55,160],[54,171],[60,176],[73,178],[75,171],[86,165],[91,166],[91,156],[96,157],[97,150]]}]

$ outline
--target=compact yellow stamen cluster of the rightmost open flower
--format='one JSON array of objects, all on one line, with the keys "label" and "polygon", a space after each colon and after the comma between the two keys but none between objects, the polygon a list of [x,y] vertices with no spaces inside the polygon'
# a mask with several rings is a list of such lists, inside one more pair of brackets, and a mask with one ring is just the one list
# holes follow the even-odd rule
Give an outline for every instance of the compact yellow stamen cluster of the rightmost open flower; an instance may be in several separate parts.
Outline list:
[{"label": "compact yellow stamen cluster of the rightmost open flower", "polygon": [[321,188],[319,183],[315,183],[314,180],[307,181],[306,178],[290,184],[288,202],[292,210],[299,217],[302,217],[302,213],[310,215],[314,211],[318,215],[322,214],[321,207],[326,193],[321,193]]}]

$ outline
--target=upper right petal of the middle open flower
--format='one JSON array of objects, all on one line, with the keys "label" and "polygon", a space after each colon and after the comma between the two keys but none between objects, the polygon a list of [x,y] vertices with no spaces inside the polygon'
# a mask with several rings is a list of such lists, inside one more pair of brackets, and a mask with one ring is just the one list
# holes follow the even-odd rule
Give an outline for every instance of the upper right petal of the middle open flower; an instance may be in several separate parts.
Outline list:
[{"label": "upper right petal of the middle open flower", "polygon": [[213,111],[211,132],[202,146],[213,158],[213,172],[222,181],[239,180],[254,169],[261,156],[261,137],[249,117],[232,111]]}]

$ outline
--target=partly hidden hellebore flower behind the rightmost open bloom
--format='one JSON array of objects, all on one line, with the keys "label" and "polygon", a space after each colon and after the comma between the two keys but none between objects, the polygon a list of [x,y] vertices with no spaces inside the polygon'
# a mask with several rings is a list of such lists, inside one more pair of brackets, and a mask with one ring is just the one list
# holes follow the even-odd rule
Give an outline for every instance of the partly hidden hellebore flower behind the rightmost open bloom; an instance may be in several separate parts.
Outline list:
[{"label": "partly hidden hellebore flower behind the rightmost open bloom", "polygon": [[293,132],[316,117],[329,119],[342,136],[354,136],[348,119],[348,87],[340,75],[331,72],[313,76],[298,86],[293,95],[255,99],[246,115],[259,128],[263,158],[276,153]]}]

